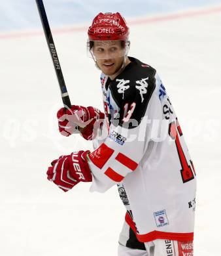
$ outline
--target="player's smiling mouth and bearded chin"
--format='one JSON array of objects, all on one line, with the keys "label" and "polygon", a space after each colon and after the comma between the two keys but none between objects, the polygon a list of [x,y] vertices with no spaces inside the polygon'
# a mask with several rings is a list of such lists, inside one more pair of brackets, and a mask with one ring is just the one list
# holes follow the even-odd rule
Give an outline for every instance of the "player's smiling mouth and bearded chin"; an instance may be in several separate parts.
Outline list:
[{"label": "player's smiling mouth and bearded chin", "polygon": [[97,60],[97,66],[105,75],[114,75],[124,64],[124,56],[108,60]]}]

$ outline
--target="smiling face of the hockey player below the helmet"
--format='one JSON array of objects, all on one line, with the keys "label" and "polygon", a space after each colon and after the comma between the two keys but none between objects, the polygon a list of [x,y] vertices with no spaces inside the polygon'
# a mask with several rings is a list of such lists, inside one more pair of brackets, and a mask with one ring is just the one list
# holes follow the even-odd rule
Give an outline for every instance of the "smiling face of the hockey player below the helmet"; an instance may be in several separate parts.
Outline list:
[{"label": "smiling face of the hockey player below the helmet", "polygon": [[114,75],[122,67],[125,49],[121,41],[95,41],[92,51],[105,75]]}]

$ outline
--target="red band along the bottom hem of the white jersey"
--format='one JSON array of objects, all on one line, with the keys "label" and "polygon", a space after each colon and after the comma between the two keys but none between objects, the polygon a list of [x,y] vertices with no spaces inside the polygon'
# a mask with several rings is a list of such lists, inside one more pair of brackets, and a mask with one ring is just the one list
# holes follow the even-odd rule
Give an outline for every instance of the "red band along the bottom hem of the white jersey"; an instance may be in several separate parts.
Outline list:
[{"label": "red band along the bottom hem of the white jersey", "polygon": [[137,240],[139,242],[145,243],[150,242],[156,239],[163,240],[177,240],[180,242],[188,242],[194,240],[194,232],[192,233],[172,233],[172,232],[162,232],[162,231],[152,231],[147,234],[137,234],[136,226],[128,213],[125,215],[126,223],[131,227],[135,235],[137,236]]}]

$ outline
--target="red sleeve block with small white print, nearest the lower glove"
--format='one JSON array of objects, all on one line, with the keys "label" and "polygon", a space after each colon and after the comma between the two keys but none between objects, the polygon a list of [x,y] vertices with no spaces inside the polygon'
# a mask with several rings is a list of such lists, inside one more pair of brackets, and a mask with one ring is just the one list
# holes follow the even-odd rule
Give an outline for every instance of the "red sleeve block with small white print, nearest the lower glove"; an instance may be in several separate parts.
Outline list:
[{"label": "red sleeve block with small white print, nearest the lower glove", "polygon": [[90,160],[92,160],[92,163],[101,169],[103,165],[107,163],[113,153],[114,150],[112,150],[112,148],[109,148],[105,143],[102,143],[99,148],[90,153],[88,156]]}]

